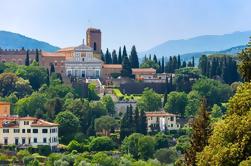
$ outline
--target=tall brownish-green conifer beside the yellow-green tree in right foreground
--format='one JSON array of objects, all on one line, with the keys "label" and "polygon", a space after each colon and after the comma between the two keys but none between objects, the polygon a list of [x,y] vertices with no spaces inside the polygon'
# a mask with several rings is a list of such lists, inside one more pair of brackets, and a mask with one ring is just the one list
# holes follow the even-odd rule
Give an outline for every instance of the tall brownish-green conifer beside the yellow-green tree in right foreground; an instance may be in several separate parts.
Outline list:
[{"label": "tall brownish-green conifer beside the yellow-green tree in right foreground", "polygon": [[198,114],[192,123],[191,147],[185,153],[185,163],[189,166],[196,165],[196,153],[201,152],[208,144],[210,134],[209,114],[206,99],[203,98]]}]

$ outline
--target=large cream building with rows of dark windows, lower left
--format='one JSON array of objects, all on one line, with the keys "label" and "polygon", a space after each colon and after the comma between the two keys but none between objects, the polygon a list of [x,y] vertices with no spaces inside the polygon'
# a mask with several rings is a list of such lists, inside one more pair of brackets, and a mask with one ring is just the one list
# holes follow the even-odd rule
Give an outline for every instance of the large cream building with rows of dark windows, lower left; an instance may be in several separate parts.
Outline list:
[{"label": "large cream building with rows of dark windows, lower left", "polygon": [[55,149],[58,143],[58,124],[56,123],[35,117],[0,116],[1,145],[22,147],[49,145],[51,149]]}]

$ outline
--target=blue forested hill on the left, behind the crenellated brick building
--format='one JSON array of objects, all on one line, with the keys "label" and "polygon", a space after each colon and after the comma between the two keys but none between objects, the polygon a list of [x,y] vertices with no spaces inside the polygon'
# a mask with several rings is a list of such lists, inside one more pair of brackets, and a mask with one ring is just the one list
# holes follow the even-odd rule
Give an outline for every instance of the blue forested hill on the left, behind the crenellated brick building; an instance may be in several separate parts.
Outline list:
[{"label": "blue forested hill on the left, behind the crenellated brick building", "polygon": [[48,52],[55,52],[59,47],[50,45],[49,43],[38,41],[18,33],[0,31],[0,48],[2,49],[41,49]]}]

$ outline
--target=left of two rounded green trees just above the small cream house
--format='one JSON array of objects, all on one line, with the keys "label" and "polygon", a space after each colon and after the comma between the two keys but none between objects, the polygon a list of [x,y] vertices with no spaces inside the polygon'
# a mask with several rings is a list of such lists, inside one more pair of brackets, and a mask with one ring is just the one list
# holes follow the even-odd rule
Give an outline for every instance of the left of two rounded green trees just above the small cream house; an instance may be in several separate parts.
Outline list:
[{"label": "left of two rounded green trees just above the small cream house", "polygon": [[146,88],[137,102],[139,110],[145,112],[158,111],[161,107],[161,95],[155,93],[152,89]]}]

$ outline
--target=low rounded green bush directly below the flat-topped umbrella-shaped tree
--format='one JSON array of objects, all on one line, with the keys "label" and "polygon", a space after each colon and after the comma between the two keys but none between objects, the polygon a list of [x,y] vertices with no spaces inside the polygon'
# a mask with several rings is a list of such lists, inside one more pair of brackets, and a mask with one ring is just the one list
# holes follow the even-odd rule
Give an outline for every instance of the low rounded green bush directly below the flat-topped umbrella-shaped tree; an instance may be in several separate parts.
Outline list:
[{"label": "low rounded green bush directly below the flat-topped umbrella-shaped tree", "polygon": [[109,137],[97,137],[90,143],[91,151],[108,151],[116,147],[115,143]]}]

